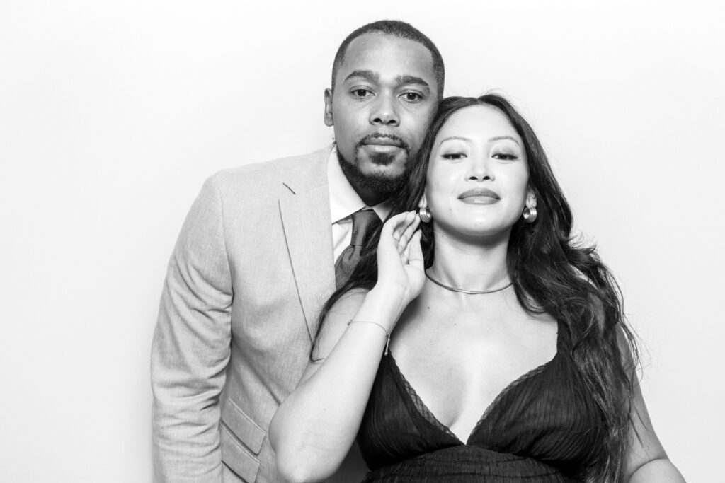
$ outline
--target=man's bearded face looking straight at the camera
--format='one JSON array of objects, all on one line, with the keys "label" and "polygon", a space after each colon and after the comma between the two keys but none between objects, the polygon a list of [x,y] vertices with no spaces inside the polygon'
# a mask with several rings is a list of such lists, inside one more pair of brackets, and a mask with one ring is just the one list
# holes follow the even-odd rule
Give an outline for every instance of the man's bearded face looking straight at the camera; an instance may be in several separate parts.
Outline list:
[{"label": "man's bearded face looking straight at the camera", "polygon": [[325,124],[335,127],[340,165],[361,196],[380,201],[405,180],[437,89],[433,58],[421,43],[366,33],[349,44],[334,93],[325,91]]}]

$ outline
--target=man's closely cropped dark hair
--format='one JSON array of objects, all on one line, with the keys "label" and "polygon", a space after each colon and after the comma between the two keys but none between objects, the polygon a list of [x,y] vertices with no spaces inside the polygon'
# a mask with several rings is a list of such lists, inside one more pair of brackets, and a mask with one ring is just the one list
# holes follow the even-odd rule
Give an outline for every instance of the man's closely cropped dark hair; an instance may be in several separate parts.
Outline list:
[{"label": "man's closely cropped dark hair", "polygon": [[354,41],[360,35],[365,33],[379,32],[386,35],[393,35],[398,38],[407,38],[408,40],[418,42],[423,47],[431,52],[433,57],[433,72],[436,76],[436,84],[438,84],[438,98],[443,98],[443,85],[445,82],[446,71],[443,65],[443,57],[438,51],[436,44],[431,41],[424,33],[417,28],[413,27],[409,23],[401,22],[400,20],[378,20],[377,22],[368,23],[355,30],[350,35],[347,35],[344,41],[340,44],[335,54],[335,62],[332,64],[332,90],[335,90],[335,77],[337,77],[337,70],[342,65],[345,59],[345,53],[347,52],[347,46],[350,42]]}]

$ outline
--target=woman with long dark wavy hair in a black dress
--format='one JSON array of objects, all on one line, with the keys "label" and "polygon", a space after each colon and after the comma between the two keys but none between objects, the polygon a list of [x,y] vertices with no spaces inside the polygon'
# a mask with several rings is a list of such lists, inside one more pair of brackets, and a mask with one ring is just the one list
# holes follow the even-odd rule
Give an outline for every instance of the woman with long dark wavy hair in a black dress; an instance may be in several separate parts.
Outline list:
[{"label": "woman with long dark wavy hair in a black dress", "polygon": [[357,435],[373,482],[684,481],[531,127],[447,98],[421,160],[272,421],[281,474],[326,478]]}]

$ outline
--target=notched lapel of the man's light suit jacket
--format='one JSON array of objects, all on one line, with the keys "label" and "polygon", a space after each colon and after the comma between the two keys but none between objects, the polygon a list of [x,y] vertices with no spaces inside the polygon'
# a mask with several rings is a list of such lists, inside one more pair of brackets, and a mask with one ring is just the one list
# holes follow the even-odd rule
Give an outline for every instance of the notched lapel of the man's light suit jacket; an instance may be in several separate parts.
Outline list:
[{"label": "notched lapel of the man's light suit jacket", "polygon": [[[334,256],[327,185],[330,149],[313,154],[318,159],[305,175],[284,182],[279,205],[287,249],[297,284],[305,323],[314,338],[322,304],[335,290]],[[308,168],[309,165],[307,166]]]}]

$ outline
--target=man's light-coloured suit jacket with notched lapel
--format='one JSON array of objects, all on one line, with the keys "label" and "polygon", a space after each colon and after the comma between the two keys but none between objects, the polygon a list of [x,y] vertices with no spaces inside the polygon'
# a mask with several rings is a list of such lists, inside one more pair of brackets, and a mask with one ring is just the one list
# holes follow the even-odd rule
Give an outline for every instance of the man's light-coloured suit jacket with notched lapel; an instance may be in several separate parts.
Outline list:
[{"label": "man's light-coloured suit jacket with notched lapel", "polygon": [[157,481],[280,481],[268,425],[335,289],[330,151],[219,172],[196,198],[154,332]]}]

